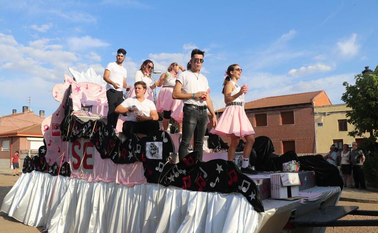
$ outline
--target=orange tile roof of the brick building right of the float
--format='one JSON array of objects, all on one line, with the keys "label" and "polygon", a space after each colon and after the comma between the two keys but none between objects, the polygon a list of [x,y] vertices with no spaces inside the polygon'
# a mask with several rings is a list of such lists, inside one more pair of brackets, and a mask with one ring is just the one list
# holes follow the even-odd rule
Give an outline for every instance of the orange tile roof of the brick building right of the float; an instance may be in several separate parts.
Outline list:
[{"label": "orange tile roof of the brick building right of the float", "polygon": [[[285,105],[295,105],[304,103],[313,103],[315,97],[319,94],[325,94],[325,91],[311,91],[305,93],[290,94],[284,96],[271,96],[262,99],[257,99],[253,101],[246,102],[244,109],[254,109],[254,108],[268,108],[275,106],[285,106]],[[327,96],[327,94],[325,94]],[[328,98],[328,97],[327,97]],[[221,108],[218,112],[223,112],[225,108]]]}]

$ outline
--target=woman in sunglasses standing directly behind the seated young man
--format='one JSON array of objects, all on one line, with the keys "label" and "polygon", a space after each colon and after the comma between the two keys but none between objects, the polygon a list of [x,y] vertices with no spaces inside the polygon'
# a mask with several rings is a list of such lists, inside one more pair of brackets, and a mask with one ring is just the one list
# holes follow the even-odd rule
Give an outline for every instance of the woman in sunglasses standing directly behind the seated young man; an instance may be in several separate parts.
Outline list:
[{"label": "woman in sunglasses standing directly behind the seated young man", "polygon": [[[134,76],[134,83],[136,82],[145,82],[147,84],[146,93],[144,93],[144,98],[149,99],[153,102],[153,92],[152,90],[155,89],[155,83],[152,83],[152,73],[153,73],[153,62],[151,60],[145,60],[141,68],[135,72]],[[135,97],[134,88],[131,90],[129,98]]]}]

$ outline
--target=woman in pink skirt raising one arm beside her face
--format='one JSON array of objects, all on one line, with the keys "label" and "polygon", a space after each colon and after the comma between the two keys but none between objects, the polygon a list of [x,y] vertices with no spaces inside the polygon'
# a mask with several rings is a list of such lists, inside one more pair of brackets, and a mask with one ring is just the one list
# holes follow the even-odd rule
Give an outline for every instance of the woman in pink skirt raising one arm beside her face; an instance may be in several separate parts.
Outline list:
[{"label": "woman in pink skirt raising one arm beside her face", "polygon": [[[181,100],[174,100],[172,98],[173,88],[176,84],[176,78],[178,72],[185,71],[185,69],[178,65],[176,62],[172,63],[168,67],[168,72],[161,74],[159,79],[159,86],[163,85],[161,88],[158,99],[156,100],[156,110],[158,113],[163,112],[163,129],[167,130],[169,125],[169,120],[171,119],[170,114],[172,113],[172,108],[175,102],[182,102]],[[179,128],[181,128],[179,126]]]}]

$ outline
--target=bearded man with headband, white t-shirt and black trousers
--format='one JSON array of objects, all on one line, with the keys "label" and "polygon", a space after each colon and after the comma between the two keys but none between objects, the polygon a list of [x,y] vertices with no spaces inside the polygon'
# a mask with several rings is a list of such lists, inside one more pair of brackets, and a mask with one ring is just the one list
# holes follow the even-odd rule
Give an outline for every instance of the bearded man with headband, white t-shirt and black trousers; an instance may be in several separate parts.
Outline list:
[{"label": "bearded man with headband, white t-shirt and black trousers", "polygon": [[115,108],[123,101],[123,88],[127,88],[126,76],[127,71],[122,66],[125,60],[125,49],[118,49],[116,62],[109,63],[104,72],[104,80],[106,84],[106,97],[108,99],[108,125],[116,128],[119,114],[114,112]]}]

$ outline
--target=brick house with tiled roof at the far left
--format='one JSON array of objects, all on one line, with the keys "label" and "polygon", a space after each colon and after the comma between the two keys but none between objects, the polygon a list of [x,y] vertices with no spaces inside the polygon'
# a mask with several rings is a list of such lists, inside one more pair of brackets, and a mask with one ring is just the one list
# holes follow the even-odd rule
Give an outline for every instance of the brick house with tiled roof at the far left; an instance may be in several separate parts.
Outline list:
[{"label": "brick house with tiled roof at the far left", "polygon": [[0,164],[9,165],[11,154],[20,151],[21,158],[38,150],[43,145],[41,123],[44,111],[39,116],[22,107],[22,113],[13,110],[11,115],[0,117]]}]

